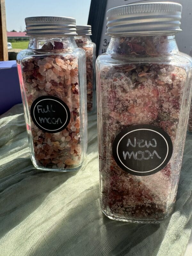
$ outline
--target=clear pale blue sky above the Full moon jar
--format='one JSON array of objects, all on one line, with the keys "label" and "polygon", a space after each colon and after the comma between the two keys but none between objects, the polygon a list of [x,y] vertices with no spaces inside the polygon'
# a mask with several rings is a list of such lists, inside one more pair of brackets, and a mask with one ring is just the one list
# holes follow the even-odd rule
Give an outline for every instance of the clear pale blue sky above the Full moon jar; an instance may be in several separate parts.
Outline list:
[{"label": "clear pale blue sky above the Full moon jar", "polygon": [[68,16],[86,25],[91,0],[5,0],[7,31],[25,29],[29,16]]}]

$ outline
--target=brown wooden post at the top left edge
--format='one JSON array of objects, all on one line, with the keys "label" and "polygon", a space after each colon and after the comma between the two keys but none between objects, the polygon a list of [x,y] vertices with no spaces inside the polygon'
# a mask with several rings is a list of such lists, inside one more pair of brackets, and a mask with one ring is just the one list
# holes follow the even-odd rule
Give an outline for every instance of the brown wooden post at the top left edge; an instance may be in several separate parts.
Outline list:
[{"label": "brown wooden post at the top left edge", "polygon": [[0,61],[8,60],[5,0],[0,0]]}]

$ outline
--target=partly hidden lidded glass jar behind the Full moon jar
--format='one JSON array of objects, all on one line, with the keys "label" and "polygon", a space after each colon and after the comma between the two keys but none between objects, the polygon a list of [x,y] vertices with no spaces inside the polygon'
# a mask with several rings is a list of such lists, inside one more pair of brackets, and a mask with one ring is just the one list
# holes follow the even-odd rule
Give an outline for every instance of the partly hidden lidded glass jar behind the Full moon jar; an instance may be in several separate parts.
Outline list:
[{"label": "partly hidden lidded glass jar behind the Full moon jar", "polygon": [[87,111],[96,111],[96,78],[95,60],[96,44],[91,41],[91,26],[76,26],[78,36],[75,36],[76,44],[84,49],[86,54],[86,78],[87,78]]}]

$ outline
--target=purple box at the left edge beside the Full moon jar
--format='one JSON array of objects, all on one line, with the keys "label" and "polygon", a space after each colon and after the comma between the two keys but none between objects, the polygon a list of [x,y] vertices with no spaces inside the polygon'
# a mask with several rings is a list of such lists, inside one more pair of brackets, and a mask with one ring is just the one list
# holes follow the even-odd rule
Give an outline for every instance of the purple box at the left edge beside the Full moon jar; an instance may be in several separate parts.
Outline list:
[{"label": "purple box at the left edge beside the Full moon jar", "polygon": [[21,102],[16,61],[0,61],[0,115]]}]

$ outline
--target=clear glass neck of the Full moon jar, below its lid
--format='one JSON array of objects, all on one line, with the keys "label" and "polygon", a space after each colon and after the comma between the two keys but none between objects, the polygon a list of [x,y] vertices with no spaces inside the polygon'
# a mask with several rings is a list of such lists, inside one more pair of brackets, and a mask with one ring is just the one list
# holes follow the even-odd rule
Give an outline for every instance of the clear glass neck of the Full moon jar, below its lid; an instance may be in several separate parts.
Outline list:
[{"label": "clear glass neck of the Full moon jar, below its lid", "polygon": [[62,50],[77,48],[74,36],[44,37],[30,36],[28,49]]}]

